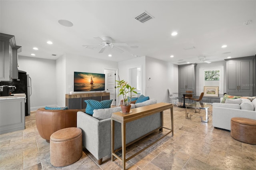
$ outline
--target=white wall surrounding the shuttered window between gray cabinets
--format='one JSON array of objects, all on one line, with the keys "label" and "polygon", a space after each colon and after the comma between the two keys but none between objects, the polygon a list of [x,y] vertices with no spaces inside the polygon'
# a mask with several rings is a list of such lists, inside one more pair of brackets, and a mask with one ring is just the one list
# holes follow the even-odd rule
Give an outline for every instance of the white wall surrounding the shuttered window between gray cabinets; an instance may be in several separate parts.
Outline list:
[{"label": "white wall surrounding the shuttered window between gray cabinets", "polygon": [[[202,85],[203,74],[201,73],[202,69],[209,68],[223,68],[223,93],[226,93],[226,61],[217,61],[212,63],[198,63],[196,66],[196,95],[200,96],[200,94],[204,91],[204,87]],[[219,96],[223,95],[219,94]]]}]

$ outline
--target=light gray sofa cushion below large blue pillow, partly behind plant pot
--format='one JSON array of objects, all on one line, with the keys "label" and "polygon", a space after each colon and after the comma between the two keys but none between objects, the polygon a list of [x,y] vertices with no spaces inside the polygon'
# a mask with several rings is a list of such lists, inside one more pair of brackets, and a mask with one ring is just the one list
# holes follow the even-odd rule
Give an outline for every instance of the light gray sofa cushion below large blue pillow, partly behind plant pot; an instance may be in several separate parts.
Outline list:
[{"label": "light gray sofa cushion below large blue pillow, partly behind plant pot", "polygon": [[[135,106],[134,104],[131,104],[131,109],[134,109]],[[121,107],[113,107],[113,108],[108,108],[108,109],[94,109],[92,117],[95,117],[98,120],[104,120],[108,119],[112,116],[112,113],[115,112],[120,112],[122,111]]]}]

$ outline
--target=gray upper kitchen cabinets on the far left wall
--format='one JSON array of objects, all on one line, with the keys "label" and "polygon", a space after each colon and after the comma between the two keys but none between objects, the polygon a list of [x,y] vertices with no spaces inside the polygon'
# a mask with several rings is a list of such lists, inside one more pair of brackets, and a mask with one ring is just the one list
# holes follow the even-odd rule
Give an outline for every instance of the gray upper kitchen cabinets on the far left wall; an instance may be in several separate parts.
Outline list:
[{"label": "gray upper kitchen cabinets on the far left wall", "polygon": [[14,36],[0,33],[0,81],[18,79],[19,52]]}]

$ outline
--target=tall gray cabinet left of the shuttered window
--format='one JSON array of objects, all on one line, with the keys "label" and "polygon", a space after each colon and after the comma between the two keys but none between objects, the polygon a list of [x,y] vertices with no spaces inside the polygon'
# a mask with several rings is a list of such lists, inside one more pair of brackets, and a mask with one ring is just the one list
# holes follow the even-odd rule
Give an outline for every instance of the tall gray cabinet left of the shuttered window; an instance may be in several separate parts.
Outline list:
[{"label": "tall gray cabinet left of the shuttered window", "polygon": [[193,91],[196,93],[196,63],[178,65],[179,68],[179,92]]}]

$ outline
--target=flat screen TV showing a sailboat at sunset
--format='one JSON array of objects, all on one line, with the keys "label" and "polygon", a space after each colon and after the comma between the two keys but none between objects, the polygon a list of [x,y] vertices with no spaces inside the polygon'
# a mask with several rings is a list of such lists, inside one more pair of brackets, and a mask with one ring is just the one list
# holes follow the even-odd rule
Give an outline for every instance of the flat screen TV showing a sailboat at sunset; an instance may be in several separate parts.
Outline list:
[{"label": "flat screen TV showing a sailboat at sunset", "polygon": [[105,74],[74,72],[74,91],[104,91]]}]

